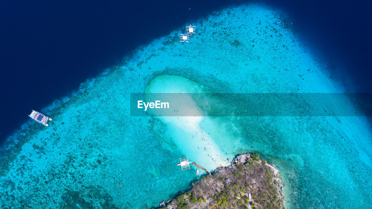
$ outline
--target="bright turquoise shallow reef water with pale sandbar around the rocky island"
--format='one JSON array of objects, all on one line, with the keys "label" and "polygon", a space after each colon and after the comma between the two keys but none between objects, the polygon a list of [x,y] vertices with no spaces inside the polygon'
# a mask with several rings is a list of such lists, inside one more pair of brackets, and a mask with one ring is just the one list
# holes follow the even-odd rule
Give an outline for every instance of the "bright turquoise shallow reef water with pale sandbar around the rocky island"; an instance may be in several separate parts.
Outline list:
[{"label": "bright turquoise shallow reef water with pale sandbar around the rocky island", "polygon": [[46,108],[48,128],[30,123],[15,133],[3,148],[2,208],[149,208],[196,180],[178,158],[213,170],[243,152],[281,171],[287,208],[368,208],[372,145],[363,117],[130,116],[130,93],[150,82],[157,85],[147,90],[165,92],[343,92],[278,12],[241,6],[195,24],[189,45],[177,42],[179,31],[155,39]]}]

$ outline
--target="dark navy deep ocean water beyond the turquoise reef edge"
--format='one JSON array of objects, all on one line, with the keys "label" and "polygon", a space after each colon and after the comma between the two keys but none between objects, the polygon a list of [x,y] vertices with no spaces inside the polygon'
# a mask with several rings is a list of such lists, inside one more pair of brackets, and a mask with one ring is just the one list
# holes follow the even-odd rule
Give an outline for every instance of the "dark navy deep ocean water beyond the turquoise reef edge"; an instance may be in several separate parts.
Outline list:
[{"label": "dark navy deep ocean water beyond the turquoise reef edge", "polygon": [[[0,139],[87,78],[185,22],[244,0],[0,3]],[[256,2],[256,1],[255,1]],[[258,1],[282,10],[349,92],[371,92],[371,1]]]}]

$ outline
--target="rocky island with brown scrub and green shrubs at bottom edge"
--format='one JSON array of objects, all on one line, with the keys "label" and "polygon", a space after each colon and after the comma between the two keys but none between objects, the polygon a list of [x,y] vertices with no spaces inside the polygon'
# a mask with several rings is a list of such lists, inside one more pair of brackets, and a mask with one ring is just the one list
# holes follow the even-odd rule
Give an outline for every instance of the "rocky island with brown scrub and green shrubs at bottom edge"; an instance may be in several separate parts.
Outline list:
[{"label": "rocky island with brown scrub and green shrubs at bottom edge", "polygon": [[160,203],[163,209],[282,209],[284,184],[273,164],[257,154],[243,154],[193,183],[191,190]]}]

